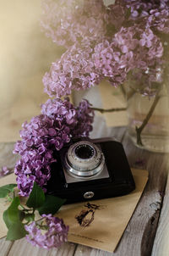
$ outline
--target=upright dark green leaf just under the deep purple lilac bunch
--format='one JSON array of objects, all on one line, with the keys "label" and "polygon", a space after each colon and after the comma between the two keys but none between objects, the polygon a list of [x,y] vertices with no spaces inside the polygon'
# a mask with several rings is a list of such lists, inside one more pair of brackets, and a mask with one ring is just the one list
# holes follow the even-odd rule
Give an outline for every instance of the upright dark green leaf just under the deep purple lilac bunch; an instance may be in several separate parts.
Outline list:
[{"label": "upright dark green leaf just under the deep purple lilac bunch", "polygon": [[34,182],[33,189],[30,193],[30,197],[28,198],[26,205],[30,208],[37,209],[41,207],[44,202],[45,194],[41,187],[37,186],[37,184]]}]

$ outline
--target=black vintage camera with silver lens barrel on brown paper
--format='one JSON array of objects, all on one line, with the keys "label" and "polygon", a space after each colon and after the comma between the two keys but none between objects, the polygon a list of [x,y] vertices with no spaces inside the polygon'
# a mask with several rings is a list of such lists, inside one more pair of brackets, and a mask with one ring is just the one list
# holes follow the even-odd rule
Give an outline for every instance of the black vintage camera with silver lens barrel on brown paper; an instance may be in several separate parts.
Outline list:
[{"label": "black vintage camera with silver lens barrel on brown paper", "polygon": [[48,194],[66,203],[123,196],[135,188],[123,145],[113,138],[78,138],[56,154]]}]

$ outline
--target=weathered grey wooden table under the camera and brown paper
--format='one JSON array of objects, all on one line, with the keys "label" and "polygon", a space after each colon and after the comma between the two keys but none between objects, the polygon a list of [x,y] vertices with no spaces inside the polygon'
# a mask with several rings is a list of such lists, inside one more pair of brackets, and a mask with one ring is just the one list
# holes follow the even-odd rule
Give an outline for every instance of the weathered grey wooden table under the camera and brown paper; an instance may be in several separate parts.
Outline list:
[{"label": "weathered grey wooden table under the camera and brown paper", "polygon": [[[99,120],[98,120],[99,121]],[[95,127],[98,127],[98,124]],[[103,131],[104,130],[104,131]],[[149,171],[150,179],[139,204],[128,223],[115,253],[88,248],[67,242],[62,248],[47,251],[34,248],[25,238],[16,242],[0,240],[1,256],[168,256],[169,255],[169,181],[168,154],[150,153],[134,146],[125,127],[107,128],[93,133],[93,136],[115,136],[123,143],[131,167]],[[96,131],[96,130],[95,130]],[[14,166],[16,157],[12,154],[14,143],[0,144],[0,164]],[[144,166],[138,165],[144,159]]]}]

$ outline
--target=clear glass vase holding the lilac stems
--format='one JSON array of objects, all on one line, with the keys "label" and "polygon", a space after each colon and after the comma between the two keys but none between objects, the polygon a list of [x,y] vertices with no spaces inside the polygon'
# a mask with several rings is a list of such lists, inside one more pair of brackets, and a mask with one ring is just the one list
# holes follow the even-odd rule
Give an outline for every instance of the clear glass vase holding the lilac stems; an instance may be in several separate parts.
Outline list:
[{"label": "clear glass vase holding the lilac stems", "polygon": [[[166,86],[153,97],[128,93],[128,135],[152,152],[169,153],[169,96]],[[140,132],[141,131],[141,132]]]}]

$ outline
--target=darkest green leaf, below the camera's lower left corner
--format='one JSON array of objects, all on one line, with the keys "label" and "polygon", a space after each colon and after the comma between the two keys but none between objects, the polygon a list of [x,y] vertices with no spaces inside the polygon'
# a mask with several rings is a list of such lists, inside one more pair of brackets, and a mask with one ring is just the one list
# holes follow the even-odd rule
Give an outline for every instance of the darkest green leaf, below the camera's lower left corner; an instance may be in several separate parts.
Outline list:
[{"label": "darkest green leaf, below the camera's lower left corner", "polygon": [[57,210],[60,209],[65,202],[66,199],[46,195],[45,203],[37,210],[39,214],[56,214]]}]

